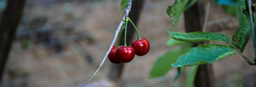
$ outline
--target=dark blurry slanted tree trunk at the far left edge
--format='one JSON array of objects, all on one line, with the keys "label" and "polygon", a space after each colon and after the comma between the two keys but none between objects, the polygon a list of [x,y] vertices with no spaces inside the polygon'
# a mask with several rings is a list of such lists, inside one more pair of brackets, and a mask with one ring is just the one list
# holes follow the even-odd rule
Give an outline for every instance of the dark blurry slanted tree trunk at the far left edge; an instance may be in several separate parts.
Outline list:
[{"label": "dark blurry slanted tree trunk at the far left edge", "polygon": [[26,0],[8,0],[0,23],[0,82]]}]

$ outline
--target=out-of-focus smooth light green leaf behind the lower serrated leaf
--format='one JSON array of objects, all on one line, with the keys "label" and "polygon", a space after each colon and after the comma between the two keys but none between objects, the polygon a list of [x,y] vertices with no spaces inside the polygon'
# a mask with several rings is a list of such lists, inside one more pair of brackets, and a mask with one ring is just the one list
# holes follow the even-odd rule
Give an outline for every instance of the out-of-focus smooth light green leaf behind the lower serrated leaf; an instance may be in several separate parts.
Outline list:
[{"label": "out-of-focus smooth light green leaf behind the lower serrated leaf", "polygon": [[175,63],[181,53],[191,48],[193,44],[186,43],[181,50],[172,50],[160,56],[154,63],[150,78],[164,76],[170,69],[172,63]]}]

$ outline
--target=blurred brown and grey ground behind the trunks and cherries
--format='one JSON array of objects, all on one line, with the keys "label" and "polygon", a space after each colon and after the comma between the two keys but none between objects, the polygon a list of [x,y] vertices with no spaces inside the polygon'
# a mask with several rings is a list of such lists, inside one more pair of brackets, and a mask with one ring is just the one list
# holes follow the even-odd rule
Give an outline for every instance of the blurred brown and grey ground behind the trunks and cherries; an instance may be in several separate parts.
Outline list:
[{"label": "blurred brown and grey ground behind the trunks and cherries", "polygon": [[[26,0],[0,87],[79,87],[84,84],[99,67],[113,41],[123,17],[123,13],[119,14],[120,3],[121,0]],[[150,51],[125,63],[120,87],[183,87],[186,83],[189,68],[175,83],[177,68],[166,76],[149,79],[155,60],[179,48],[166,45],[170,39],[166,30],[171,28],[173,19],[166,14],[166,8],[174,3],[175,0],[143,2],[137,28],[140,37],[150,42]],[[206,5],[204,1],[200,4]],[[5,7],[6,0],[0,0],[1,14]],[[238,18],[225,14],[212,0],[208,31],[232,38],[238,27]],[[183,14],[172,31],[185,32]],[[137,40],[137,35],[133,34],[131,39]],[[253,60],[252,39],[243,54]],[[109,79],[111,67],[106,59],[86,86],[113,87],[115,82]],[[253,87],[256,84],[255,66],[248,65],[238,55],[213,63],[213,70],[216,87]]]}]

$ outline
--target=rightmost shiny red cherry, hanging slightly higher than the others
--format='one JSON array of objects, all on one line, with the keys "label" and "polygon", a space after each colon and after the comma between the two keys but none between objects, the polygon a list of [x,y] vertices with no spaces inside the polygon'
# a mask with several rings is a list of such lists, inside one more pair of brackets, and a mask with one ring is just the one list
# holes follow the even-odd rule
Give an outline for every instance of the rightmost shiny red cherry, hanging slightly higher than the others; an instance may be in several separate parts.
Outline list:
[{"label": "rightmost shiny red cherry, hanging slightly higher than the others", "polygon": [[140,40],[135,40],[131,43],[131,46],[134,47],[136,55],[144,56],[149,51],[149,42],[145,38],[141,38]]}]

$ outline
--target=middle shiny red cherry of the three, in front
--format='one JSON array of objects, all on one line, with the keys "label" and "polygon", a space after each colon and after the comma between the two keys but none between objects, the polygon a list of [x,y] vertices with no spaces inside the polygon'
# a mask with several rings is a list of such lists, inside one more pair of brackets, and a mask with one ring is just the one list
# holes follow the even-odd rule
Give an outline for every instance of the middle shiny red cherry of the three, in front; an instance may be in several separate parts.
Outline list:
[{"label": "middle shiny red cherry of the three, in front", "polygon": [[116,50],[116,56],[121,62],[131,62],[135,56],[135,50],[129,46],[119,46]]}]

